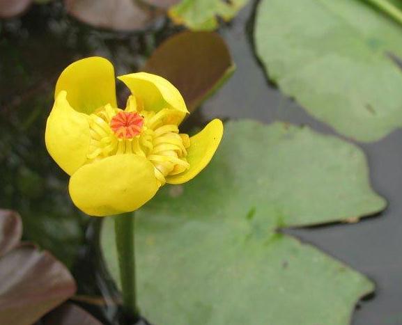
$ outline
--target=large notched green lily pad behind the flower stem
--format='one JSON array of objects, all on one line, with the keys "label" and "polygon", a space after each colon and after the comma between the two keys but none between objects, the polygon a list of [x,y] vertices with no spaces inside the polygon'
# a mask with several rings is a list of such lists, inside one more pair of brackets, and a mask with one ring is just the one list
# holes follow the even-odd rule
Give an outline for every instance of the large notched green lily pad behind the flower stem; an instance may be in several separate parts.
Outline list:
[{"label": "large notched green lily pad behind the flower stem", "polygon": [[[226,123],[206,170],[136,223],[139,308],[152,324],[348,324],[365,276],[278,231],[379,212],[362,150],[307,127]],[[102,249],[118,280],[114,219]]]}]

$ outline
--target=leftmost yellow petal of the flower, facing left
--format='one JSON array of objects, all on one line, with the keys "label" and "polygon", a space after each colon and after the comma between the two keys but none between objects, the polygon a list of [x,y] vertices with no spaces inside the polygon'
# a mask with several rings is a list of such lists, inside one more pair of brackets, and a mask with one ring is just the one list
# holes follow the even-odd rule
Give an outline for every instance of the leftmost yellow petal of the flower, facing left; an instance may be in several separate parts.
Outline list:
[{"label": "leftmost yellow petal of the flower, facing left", "polygon": [[88,116],[71,108],[61,91],[47,118],[45,142],[47,151],[68,175],[86,161],[89,142]]}]

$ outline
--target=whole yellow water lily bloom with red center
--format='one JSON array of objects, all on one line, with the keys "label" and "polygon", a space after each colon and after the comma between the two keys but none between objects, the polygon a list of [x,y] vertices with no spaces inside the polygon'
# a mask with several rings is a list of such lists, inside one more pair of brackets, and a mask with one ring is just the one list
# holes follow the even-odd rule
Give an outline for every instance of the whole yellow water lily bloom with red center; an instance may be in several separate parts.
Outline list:
[{"label": "whole yellow water lily bloom with red center", "polygon": [[47,119],[47,150],[71,176],[72,201],[91,216],[134,211],[165,183],[191,180],[209,163],[223,133],[215,119],[191,138],[180,134],[188,111],[166,79],[145,72],[118,79],[132,93],[124,110],[116,104],[109,61],[72,63],[57,81]]}]

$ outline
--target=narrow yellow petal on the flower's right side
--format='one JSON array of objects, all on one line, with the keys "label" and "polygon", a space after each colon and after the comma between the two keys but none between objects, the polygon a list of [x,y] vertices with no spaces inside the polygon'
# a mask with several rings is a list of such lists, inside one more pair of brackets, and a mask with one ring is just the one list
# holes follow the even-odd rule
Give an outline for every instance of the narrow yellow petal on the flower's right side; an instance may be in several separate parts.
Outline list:
[{"label": "narrow yellow petal on the flower's right side", "polygon": [[204,129],[190,138],[190,148],[187,149],[187,161],[190,169],[184,173],[167,178],[169,184],[182,184],[200,173],[212,159],[221,142],[224,132],[222,121],[215,119]]}]

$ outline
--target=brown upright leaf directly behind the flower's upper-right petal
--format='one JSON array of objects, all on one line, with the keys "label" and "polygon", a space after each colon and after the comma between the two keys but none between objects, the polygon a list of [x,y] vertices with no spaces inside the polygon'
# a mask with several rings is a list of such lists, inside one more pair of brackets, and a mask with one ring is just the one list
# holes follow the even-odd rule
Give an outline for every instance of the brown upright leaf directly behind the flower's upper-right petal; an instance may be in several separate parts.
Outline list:
[{"label": "brown upright leaf directly behind the flower's upper-right petal", "polygon": [[185,31],[160,45],[143,70],[171,81],[191,112],[231,77],[235,65],[217,33]]}]

